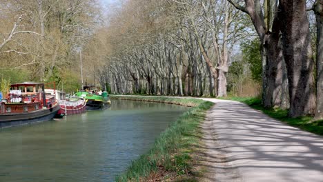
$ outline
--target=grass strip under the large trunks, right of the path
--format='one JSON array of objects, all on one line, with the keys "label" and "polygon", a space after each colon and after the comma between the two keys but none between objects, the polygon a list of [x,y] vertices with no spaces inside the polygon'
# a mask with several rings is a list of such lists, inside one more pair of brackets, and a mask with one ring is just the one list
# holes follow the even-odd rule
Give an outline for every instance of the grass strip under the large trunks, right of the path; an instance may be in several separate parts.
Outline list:
[{"label": "grass strip under the large trunks, right of the path", "polygon": [[224,97],[220,99],[229,99],[246,103],[251,108],[260,110],[269,117],[280,120],[288,125],[292,125],[308,132],[323,135],[323,120],[313,121],[313,117],[290,118],[288,117],[288,110],[264,108],[262,106],[262,100],[256,97]]}]

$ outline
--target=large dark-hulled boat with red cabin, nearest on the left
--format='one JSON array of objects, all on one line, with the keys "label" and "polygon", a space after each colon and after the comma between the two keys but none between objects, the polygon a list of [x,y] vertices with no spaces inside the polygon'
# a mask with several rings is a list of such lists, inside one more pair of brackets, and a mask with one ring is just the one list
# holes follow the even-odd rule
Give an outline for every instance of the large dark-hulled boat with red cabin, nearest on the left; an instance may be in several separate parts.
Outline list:
[{"label": "large dark-hulled boat with red cabin, nearest on the left", "polygon": [[55,96],[46,96],[44,83],[12,84],[0,103],[0,128],[48,121],[59,111]]}]

